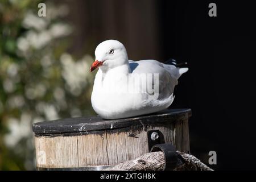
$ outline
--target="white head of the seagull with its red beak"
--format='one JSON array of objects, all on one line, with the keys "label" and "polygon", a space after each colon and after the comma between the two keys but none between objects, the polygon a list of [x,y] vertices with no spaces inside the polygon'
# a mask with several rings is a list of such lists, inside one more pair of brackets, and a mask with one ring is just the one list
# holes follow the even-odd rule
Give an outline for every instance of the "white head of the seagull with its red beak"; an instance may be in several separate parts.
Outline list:
[{"label": "white head of the seagull with its red beak", "polygon": [[125,46],[117,40],[106,40],[95,49],[95,61],[90,72],[98,67],[108,70],[124,64],[129,64]]}]

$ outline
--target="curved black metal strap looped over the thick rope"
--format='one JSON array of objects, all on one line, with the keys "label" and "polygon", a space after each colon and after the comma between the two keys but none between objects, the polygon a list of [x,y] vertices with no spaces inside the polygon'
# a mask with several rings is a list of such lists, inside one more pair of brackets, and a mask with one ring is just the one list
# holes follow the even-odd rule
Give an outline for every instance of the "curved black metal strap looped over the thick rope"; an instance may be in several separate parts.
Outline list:
[{"label": "curved black metal strap looped over the thick rope", "polygon": [[177,152],[171,143],[155,144],[150,152],[162,151],[164,153],[164,171],[171,171],[177,166]]}]

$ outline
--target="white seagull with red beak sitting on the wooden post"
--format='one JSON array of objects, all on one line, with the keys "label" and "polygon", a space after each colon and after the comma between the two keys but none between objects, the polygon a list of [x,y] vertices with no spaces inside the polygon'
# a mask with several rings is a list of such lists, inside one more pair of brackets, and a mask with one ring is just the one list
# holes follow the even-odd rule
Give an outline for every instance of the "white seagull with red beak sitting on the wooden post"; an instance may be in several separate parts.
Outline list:
[{"label": "white seagull with red beak sitting on the wooden post", "polygon": [[90,72],[99,68],[91,96],[94,111],[104,119],[121,119],[167,109],[174,101],[178,78],[188,68],[175,60],[129,60],[125,46],[106,40],[95,50]]}]

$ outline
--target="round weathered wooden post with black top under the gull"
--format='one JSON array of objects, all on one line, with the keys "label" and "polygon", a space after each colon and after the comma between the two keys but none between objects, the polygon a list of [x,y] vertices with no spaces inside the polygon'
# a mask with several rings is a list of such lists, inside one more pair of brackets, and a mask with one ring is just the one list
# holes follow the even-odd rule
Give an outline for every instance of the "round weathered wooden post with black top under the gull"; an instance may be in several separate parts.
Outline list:
[{"label": "round weathered wooden post with black top under the gull", "polygon": [[135,159],[158,143],[189,153],[189,117],[191,109],[171,109],[127,119],[35,123],[36,165],[39,170],[100,170]]}]

